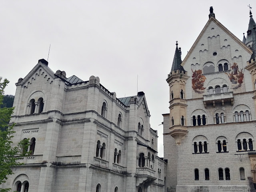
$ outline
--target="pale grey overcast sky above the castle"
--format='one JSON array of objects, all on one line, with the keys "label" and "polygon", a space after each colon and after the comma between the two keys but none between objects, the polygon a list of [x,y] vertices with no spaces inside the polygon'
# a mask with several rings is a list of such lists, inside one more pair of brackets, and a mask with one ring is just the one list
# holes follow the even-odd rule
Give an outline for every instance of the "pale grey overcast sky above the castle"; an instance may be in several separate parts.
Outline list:
[{"label": "pale grey overcast sky above the castle", "polygon": [[[248,30],[249,0],[44,0],[0,1],[0,76],[15,83],[37,64],[89,80],[94,75],[118,98],[146,94],[151,127],[163,156],[162,114],[169,113],[170,72],[176,40],[182,59],[208,21],[216,19],[242,40]],[[255,10],[255,11],[254,11]],[[188,69],[185,69],[188,70]]]}]

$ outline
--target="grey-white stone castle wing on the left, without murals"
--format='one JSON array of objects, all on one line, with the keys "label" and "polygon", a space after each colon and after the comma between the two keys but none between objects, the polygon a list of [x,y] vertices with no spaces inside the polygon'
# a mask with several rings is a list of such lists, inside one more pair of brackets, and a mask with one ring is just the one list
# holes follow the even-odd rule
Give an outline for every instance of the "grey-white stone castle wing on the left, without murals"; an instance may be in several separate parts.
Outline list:
[{"label": "grey-white stone castle wing on the left, without murals", "polygon": [[23,192],[28,183],[33,192],[164,192],[167,163],[157,156],[157,131],[150,128],[144,93],[118,99],[98,77],[74,76],[78,81],[70,83],[65,76],[39,60],[16,84],[13,145],[29,138],[31,150],[35,139],[34,153],[1,187]]}]

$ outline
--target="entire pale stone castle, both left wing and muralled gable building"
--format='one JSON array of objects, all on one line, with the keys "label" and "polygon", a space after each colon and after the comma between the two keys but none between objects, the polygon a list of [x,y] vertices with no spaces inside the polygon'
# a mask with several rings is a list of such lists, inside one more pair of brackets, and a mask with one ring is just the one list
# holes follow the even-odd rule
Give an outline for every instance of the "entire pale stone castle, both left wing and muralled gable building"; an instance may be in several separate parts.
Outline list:
[{"label": "entire pale stone castle, both left wing and muralled gable building", "polygon": [[209,20],[170,74],[164,158],[144,92],[116,98],[98,77],[52,72],[44,59],[16,83],[13,142],[32,155],[2,188],[21,192],[254,192],[256,25],[240,41]]}]

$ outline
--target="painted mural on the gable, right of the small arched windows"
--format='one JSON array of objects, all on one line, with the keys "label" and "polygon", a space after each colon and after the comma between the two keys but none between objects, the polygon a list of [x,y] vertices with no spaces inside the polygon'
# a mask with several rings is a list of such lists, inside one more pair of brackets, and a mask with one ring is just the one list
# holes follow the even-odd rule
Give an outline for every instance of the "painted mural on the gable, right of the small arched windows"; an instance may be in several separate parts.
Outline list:
[{"label": "painted mural on the gable, right of the small arched windows", "polygon": [[231,88],[232,89],[237,89],[240,86],[242,86],[243,80],[244,80],[244,74],[243,74],[243,69],[238,69],[237,63],[234,63],[231,66],[232,72],[225,72],[228,75],[228,78],[231,82]]}]

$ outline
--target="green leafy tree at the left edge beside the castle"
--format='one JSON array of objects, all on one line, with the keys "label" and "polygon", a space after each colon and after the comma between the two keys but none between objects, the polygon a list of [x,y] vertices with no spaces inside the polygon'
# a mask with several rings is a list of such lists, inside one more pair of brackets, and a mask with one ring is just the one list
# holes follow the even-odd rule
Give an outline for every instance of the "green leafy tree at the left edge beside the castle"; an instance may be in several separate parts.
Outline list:
[{"label": "green leafy tree at the left edge beside the castle", "polygon": [[[4,88],[9,81],[0,77],[0,105],[4,98]],[[22,156],[29,156],[31,152],[27,152],[28,139],[24,139],[18,143],[17,146],[12,146],[11,139],[15,131],[13,130],[15,124],[9,124],[14,108],[0,108],[0,184],[5,183],[7,176],[14,174],[12,172],[13,166],[20,166],[22,163],[18,162]],[[8,192],[8,189],[0,188],[0,192]]]}]

